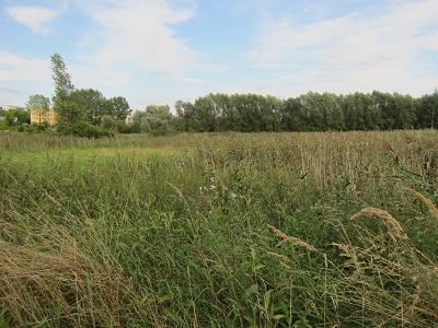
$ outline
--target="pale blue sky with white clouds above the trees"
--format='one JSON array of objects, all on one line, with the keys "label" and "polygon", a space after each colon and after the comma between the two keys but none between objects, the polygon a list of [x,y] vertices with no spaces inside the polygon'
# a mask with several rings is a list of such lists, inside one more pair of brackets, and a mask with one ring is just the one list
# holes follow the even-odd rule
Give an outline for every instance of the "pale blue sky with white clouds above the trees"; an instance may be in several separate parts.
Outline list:
[{"label": "pale blue sky with white clouds above the trees", "polygon": [[208,93],[438,87],[438,0],[0,0],[0,105],[76,87],[131,108]]}]

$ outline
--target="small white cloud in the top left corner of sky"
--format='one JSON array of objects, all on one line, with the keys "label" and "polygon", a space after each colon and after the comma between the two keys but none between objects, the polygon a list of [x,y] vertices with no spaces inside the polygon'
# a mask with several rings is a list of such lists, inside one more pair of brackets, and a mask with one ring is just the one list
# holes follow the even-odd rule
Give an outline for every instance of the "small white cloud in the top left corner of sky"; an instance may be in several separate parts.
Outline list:
[{"label": "small white cloud in the top left corner of sky", "polygon": [[53,9],[32,5],[13,5],[7,9],[7,14],[12,20],[32,30],[33,33],[49,33],[48,22],[59,15]]}]

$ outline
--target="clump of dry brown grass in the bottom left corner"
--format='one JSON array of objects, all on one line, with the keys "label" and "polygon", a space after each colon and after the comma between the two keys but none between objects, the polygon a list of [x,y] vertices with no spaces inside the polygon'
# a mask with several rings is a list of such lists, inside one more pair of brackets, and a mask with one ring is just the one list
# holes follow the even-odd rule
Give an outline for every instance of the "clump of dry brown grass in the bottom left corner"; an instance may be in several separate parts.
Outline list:
[{"label": "clump of dry brown grass in the bottom left corner", "polygon": [[0,308],[8,309],[8,321],[13,327],[122,326],[119,311],[130,293],[126,279],[64,237],[38,248],[0,244]]}]

